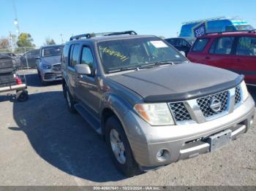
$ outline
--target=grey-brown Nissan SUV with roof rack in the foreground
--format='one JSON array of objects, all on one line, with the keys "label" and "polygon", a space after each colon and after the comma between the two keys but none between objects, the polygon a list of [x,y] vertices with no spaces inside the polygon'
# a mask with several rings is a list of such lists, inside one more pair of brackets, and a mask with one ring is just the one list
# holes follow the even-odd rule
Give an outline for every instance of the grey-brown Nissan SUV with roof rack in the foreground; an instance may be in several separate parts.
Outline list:
[{"label": "grey-brown Nissan SUV with roof rack in the foreground", "polygon": [[72,36],[61,68],[69,111],[105,137],[127,176],[213,152],[252,126],[243,76],[190,63],[157,36]]}]

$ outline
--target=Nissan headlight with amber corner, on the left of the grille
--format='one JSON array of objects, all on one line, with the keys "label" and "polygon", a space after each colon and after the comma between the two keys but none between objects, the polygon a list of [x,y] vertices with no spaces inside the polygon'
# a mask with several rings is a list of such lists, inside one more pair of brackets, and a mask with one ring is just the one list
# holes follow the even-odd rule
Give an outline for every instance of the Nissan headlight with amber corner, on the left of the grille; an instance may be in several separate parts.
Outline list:
[{"label": "Nissan headlight with amber corner, on the left of the grille", "polygon": [[173,117],[166,103],[137,104],[134,109],[150,125],[174,125]]}]

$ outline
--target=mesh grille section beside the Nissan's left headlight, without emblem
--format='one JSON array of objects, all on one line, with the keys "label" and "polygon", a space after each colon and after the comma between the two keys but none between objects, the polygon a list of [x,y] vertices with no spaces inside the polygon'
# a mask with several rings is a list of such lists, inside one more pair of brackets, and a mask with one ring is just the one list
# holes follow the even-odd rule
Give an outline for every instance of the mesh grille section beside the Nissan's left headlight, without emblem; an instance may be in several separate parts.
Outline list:
[{"label": "mesh grille section beside the Nissan's left headlight, without emblem", "polygon": [[183,102],[170,103],[169,106],[176,122],[192,120]]}]

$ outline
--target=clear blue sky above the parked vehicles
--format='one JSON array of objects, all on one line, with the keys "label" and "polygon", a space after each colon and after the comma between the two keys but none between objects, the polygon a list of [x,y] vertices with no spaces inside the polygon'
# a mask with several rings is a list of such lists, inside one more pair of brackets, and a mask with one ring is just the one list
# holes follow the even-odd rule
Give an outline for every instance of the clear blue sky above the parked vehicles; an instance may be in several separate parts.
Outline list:
[{"label": "clear blue sky above the parked vehicles", "polygon": [[41,46],[50,37],[61,43],[85,33],[133,30],[138,34],[174,37],[181,23],[209,17],[245,19],[256,27],[255,0],[0,0],[0,37],[20,32],[31,34]]}]

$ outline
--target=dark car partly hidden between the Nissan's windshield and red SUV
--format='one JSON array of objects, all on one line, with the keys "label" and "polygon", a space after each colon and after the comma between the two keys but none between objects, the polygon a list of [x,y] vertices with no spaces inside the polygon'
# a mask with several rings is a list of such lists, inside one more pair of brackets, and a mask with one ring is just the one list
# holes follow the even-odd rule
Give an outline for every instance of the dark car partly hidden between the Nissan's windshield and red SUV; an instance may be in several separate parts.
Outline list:
[{"label": "dark car partly hidden between the Nissan's windshield and red SUV", "polygon": [[185,55],[187,56],[190,48],[195,42],[195,38],[170,38],[170,39],[165,39],[165,41],[172,44],[173,47],[176,47],[178,51],[185,52]]}]

